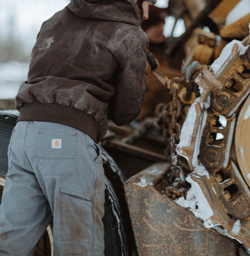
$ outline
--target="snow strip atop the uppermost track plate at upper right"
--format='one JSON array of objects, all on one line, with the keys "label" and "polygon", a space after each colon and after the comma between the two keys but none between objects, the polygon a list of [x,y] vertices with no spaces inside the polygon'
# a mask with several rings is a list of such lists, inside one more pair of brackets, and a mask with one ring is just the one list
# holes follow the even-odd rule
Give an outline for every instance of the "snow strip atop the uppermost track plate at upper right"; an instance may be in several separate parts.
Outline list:
[{"label": "snow strip atop the uppermost track plate at upper right", "polygon": [[211,65],[211,67],[215,73],[220,69],[220,67],[224,64],[224,62],[228,59],[228,57],[232,53],[234,44],[238,44],[238,46],[239,46],[238,52],[240,55],[245,54],[245,52],[247,51],[247,49],[249,47],[249,46],[243,46],[243,44],[241,44],[241,41],[238,41],[238,40],[233,40],[229,44],[227,44],[224,47],[224,49],[222,50],[220,56]]}]

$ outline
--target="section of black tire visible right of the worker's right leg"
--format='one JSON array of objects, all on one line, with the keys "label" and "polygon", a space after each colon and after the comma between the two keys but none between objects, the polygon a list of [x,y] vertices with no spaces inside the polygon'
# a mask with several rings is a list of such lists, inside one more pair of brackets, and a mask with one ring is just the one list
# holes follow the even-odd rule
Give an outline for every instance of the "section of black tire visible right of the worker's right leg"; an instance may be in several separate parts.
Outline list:
[{"label": "section of black tire visible right of the worker's right leg", "polygon": [[[102,148],[105,171],[105,256],[138,256],[125,197],[125,177],[112,157]],[[106,234],[108,234],[106,236]]]}]

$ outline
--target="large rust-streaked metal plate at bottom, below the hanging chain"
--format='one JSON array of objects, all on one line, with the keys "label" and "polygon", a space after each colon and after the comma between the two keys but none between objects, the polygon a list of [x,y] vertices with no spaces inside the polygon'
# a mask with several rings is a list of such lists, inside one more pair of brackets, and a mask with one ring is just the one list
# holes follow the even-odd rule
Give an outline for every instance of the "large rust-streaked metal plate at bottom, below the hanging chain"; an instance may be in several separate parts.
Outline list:
[{"label": "large rust-streaked metal plate at bottom, below the hanging chain", "polygon": [[158,163],[125,184],[140,256],[235,256],[230,238],[207,229],[192,212],[164,196],[159,182],[169,165]]}]

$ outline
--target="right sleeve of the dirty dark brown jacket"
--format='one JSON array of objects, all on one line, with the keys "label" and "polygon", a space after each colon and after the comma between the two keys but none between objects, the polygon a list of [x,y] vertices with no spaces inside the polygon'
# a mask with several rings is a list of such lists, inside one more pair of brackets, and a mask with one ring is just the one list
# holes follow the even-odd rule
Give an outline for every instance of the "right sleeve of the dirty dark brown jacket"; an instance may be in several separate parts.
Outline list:
[{"label": "right sleeve of the dirty dark brown jacket", "polygon": [[115,74],[115,94],[109,100],[108,117],[116,125],[128,124],[140,115],[145,98],[147,49],[148,40],[138,44]]}]

